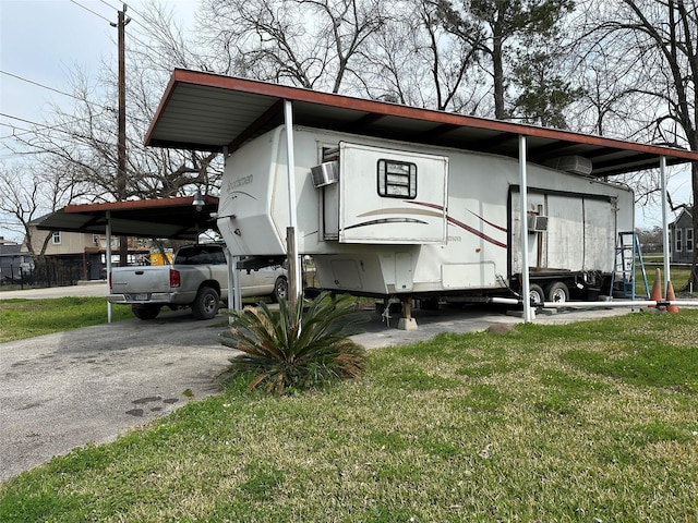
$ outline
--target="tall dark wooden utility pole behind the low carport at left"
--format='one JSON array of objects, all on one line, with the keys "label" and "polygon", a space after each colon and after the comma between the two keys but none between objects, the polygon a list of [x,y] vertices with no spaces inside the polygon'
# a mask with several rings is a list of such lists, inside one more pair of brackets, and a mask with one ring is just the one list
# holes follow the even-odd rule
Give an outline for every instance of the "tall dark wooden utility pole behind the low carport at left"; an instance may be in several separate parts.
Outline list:
[{"label": "tall dark wooden utility pole behind the low carport at left", "polygon": [[[119,130],[118,130],[118,169],[117,169],[117,199],[119,202],[127,198],[127,69],[125,69],[125,26],[131,19],[127,19],[127,8],[118,12],[117,23],[111,23],[117,27],[117,46],[119,48]],[[129,260],[129,240],[125,236],[119,239],[119,258],[123,267]]]}]

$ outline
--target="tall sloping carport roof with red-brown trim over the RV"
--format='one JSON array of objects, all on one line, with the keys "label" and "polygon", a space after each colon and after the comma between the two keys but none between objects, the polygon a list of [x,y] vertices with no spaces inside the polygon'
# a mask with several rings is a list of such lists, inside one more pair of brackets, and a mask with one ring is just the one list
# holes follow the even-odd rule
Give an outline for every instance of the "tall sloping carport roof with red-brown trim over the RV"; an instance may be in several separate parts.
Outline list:
[{"label": "tall sloping carport roof with red-brown trim over the RV", "polygon": [[579,155],[593,177],[609,177],[698,161],[698,153],[604,138],[534,125],[489,120],[297,87],[174,70],[145,137],[158,147],[232,153],[284,123],[284,100],[293,102],[298,125],[347,131],[406,142],[518,157],[528,138],[528,160],[545,163]]}]

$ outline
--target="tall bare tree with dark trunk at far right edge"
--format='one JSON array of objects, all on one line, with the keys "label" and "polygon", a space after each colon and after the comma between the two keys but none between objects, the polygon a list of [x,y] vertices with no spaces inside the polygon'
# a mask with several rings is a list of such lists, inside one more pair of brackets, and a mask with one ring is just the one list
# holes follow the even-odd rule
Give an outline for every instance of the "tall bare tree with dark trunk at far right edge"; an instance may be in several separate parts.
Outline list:
[{"label": "tall bare tree with dark trunk at far right edge", "polygon": [[[698,3],[696,0],[618,0],[599,8],[602,20],[589,38],[611,45],[637,76],[619,92],[633,101],[652,142],[698,150]],[[618,54],[621,56],[621,54]],[[647,108],[641,111],[639,108]],[[691,195],[698,195],[698,163],[691,166]],[[698,214],[694,212],[694,230]],[[691,280],[698,285],[698,251]]]}]

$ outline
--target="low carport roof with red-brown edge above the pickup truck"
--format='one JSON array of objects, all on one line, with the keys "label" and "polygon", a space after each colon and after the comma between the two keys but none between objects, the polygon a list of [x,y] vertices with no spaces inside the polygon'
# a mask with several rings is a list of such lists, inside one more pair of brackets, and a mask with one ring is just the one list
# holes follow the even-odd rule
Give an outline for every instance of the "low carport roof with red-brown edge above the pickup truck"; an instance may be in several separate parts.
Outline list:
[{"label": "low carport roof with red-brown edge above the pickup truck", "polygon": [[36,226],[49,231],[106,234],[109,212],[112,235],[195,241],[216,226],[212,214],[218,210],[218,198],[203,196],[203,200],[201,210],[192,205],[194,196],[69,205]]}]

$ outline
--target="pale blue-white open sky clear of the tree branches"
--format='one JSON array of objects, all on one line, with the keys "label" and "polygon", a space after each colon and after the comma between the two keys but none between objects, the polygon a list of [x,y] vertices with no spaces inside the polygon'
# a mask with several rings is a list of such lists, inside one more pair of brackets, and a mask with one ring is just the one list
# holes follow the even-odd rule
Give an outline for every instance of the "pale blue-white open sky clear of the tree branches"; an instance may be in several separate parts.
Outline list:
[{"label": "pale blue-white open sky clear of the tree branches", "polygon": [[[137,24],[144,5],[153,1],[128,1],[127,15]],[[171,7],[174,19],[184,26],[200,3],[159,2]],[[96,78],[103,60],[116,61],[117,29],[109,23],[117,21],[122,5],[116,0],[0,0],[0,162],[16,158],[4,147],[13,132],[48,121],[51,104],[70,107],[71,98],[59,93],[70,93],[70,71],[80,69]],[[127,35],[132,29],[134,26],[127,26]],[[688,203],[689,169],[672,172],[676,174],[669,188],[674,202]],[[670,214],[670,221],[673,219]],[[13,236],[3,223],[0,216],[0,236]],[[638,205],[636,226],[661,226],[660,206]]]}]

